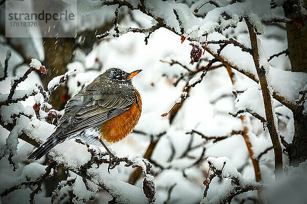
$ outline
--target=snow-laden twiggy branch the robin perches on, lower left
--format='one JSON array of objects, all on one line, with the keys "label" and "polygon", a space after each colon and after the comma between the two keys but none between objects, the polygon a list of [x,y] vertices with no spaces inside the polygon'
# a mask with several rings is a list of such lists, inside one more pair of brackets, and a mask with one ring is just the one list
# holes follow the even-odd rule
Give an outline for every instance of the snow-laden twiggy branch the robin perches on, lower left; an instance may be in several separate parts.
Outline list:
[{"label": "snow-laden twiggy branch the robin perches on, lower left", "polygon": [[[40,64],[39,61],[32,59],[32,62],[30,63],[30,68],[26,71],[26,73],[23,74],[22,77],[19,77],[13,81],[10,94],[1,95],[2,98],[7,97],[7,99],[4,100],[5,102],[3,102],[3,105],[0,109],[0,121],[1,125],[5,129],[10,131],[10,134],[6,139],[6,144],[1,146],[0,159],[3,159],[4,157],[8,156],[8,160],[13,166],[14,171],[18,168],[18,165],[15,162],[18,139],[22,139],[29,144],[38,147],[47,139],[47,137],[50,136],[54,129],[54,125],[48,123],[46,120],[54,117],[59,117],[61,114],[56,110],[50,110],[48,113],[46,113],[45,111],[40,109],[40,115],[43,115],[43,117],[36,118],[33,110],[35,109],[35,106],[33,108],[24,107],[20,104],[18,98],[18,100],[14,98],[16,97],[15,95],[17,93],[17,91],[15,91],[15,88],[18,86],[18,84],[25,81],[29,73],[31,73],[33,70],[41,69],[41,67],[43,66]],[[48,91],[43,90],[42,87],[38,85],[35,86],[35,94],[41,93],[43,96],[44,103],[48,103],[52,91],[55,90],[61,83],[65,82],[71,72],[72,71],[67,72],[51,80],[48,85]],[[25,91],[23,90],[18,91],[23,92],[23,94],[25,94]],[[29,97],[29,94],[26,94],[26,96]],[[34,196],[40,191],[42,182],[46,180],[53,166],[56,164],[61,165],[77,174],[77,180],[74,184],[72,184],[73,180],[71,179],[68,179],[65,184],[71,184],[73,186],[73,189],[75,188],[74,186],[79,185],[78,178],[81,178],[81,182],[84,183],[86,189],[89,191],[90,194],[92,192],[95,195],[97,191],[97,186],[99,186],[105,189],[109,194],[111,194],[113,196],[113,201],[116,203],[152,203],[155,201],[155,182],[153,181],[153,176],[150,172],[151,164],[146,159],[143,159],[141,156],[127,156],[115,159],[114,167],[123,162],[125,163],[125,166],[131,166],[133,168],[138,167],[142,169],[145,178],[143,180],[143,189],[140,189],[138,187],[131,186],[119,180],[117,177],[116,170],[111,170],[110,172],[108,172],[107,169],[110,161],[108,161],[108,159],[103,158],[105,154],[103,154],[100,149],[90,149],[90,152],[88,152],[86,150],[85,145],[76,143],[74,141],[68,142],[70,144],[65,145],[69,145],[70,150],[68,150],[67,147],[62,146],[54,148],[49,153],[53,161],[46,168],[45,173],[41,173],[41,176],[38,176],[36,178],[33,177],[33,179],[30,181],[21,181],[19,183],[17,182],[14,186],[1,191],[1,196],[5,196],[23,186],[31,187],[37,185],[37,187],[34,188],[34,190],[29,195],[30,203],[33,203]],[[76,149],[78,150],[76,151]],[[76,154],[76,152],[78,152],[78,154]],[[32,164],[34,165],[37,163]],[[89,182],[91,182],[91,184]],[[58,194],[61,194],[60,191],[65,185],[63,184],[62,186],[59,186]],[[82,195],[79,195],[82,192],[73,190],[73,193],[76,195],[76,197],[82,197]],[[55,192],[53,200],[57,200],[58,196],[61,195],[56,195]],[[82,199],[83,201],[87,202],[94,197],[83,196]]]}]

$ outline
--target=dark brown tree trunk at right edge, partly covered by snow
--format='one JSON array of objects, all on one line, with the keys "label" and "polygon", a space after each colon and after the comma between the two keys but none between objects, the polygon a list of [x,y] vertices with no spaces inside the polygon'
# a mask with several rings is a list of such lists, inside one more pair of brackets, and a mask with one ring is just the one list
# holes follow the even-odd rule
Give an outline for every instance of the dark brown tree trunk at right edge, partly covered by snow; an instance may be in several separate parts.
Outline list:
[{"label": "dark brown tree trunk at right edge, partly covered by snow", "polygon": [[[302,5],[307,5],[307,0],[302,0]],[[298,1],[289,0],[284,3],[284,15],[287,18],[301,19],[296,13],[294,5],[299,5]],[[307,20],[307,19],[305,19]],[[299,20],[299,23],[303,20]],[[291,70],[307,72],[307,23],[302,27],[295,24],[287,24],[288,52],[291,61]],[[303,106],[298,106],[294,111],[295,133],[292,143],[288,147],[290,165],[298,166],[299,163],[307,159],[307,117],[302,114]]]}]

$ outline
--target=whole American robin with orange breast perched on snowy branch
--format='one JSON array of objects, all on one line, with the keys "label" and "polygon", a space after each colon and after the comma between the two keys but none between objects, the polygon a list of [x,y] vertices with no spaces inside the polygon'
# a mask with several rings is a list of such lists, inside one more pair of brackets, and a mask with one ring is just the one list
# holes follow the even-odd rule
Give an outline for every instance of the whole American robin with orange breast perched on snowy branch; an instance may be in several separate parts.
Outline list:
[{"label": "whole American robin with orange breast perched on snowy branch", "polygon": [[111,161],[114,155],[106,144],[125,138],[141,116],[141,96],[131,82],[140,71],[110,68],[99,75],[67,102],[55,132],[28,159],[38,160],[57,144],[75,138],[87,147],[103,145]]}]

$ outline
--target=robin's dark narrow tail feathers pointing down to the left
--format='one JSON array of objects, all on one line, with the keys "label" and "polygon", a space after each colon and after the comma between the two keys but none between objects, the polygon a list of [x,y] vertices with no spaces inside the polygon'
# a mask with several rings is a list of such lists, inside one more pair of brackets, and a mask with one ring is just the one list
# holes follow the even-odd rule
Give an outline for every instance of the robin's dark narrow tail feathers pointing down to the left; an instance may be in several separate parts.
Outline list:
[{"label": "robin's dark narrow tail feathers pointing down to the left", "polygon": [[63,139],[60,137],[50,137],[45,143],[38,147],[28,159],[39,160],[42,156],[46,155],[55,145],[63,142]]}]

